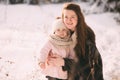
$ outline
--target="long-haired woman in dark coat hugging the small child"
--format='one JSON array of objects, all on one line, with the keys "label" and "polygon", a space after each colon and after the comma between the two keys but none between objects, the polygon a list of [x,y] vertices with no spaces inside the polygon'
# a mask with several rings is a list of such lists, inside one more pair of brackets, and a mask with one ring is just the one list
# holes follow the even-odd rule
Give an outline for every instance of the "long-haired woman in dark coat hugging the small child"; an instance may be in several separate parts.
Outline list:
[{"label": "long-haired woman in dark coat hugging the small child", "polygon": [[85,23],[80,6],[74,3],[64,4],[62,19],[71,31],[76,57],[72,60],[54,54],[49,59],[49,64],[57,63],[56,66],[62,66],[63,70],[68,71],[68,80],[104,80],[95,34]]}]

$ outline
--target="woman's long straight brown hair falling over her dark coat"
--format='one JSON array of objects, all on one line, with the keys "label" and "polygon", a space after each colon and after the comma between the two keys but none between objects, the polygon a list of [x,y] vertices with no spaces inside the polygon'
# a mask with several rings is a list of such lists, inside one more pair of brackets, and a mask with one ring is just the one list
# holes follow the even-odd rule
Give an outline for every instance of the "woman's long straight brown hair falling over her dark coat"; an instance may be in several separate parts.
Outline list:
[{"label": "woman's long straight brown hair falling over her dark coat", "polygon": [[[80,6],[74,3],[66,3],[63,6],[63,11],[64,10],[73,10],[78,17],[78,23],[76,25],[77,44],[74,49],[77,57],[80,55],[84,56],[87,26],[84,21],[84,17],[81,12]],[[63,16],[64,16],[64,13],[62,13],[62,18],[64,18]]]}]

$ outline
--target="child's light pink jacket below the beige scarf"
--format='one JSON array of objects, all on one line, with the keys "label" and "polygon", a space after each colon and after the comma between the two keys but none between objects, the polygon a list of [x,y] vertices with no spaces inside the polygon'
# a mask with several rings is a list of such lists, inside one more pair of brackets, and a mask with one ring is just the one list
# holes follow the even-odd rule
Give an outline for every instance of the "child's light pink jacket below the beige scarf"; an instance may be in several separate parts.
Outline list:
[{"label": "child's light pink jacket below the beige scarf", "polygon": [[[52,49],[53,53],[56,53],[63,58],[73,58],[74,51],[70,48],[56,48],[50,41],[48,41],[40,51],[40,62],[45,62],[49,51]],[[51,76],[59,79],[67,79],[67,71],[63,71],[62,67],[55,67],[48,65],[46,69],[42,70],[45,76]]]}]

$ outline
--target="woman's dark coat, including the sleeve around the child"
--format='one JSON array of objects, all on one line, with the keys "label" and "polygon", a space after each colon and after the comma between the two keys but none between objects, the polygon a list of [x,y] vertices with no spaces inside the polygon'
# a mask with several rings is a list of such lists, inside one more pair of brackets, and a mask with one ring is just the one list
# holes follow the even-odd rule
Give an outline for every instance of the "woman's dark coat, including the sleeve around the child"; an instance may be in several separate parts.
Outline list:
[{"label": "woman's dark coat, including the sleeve around the child", "polygon": [[101,55],[95,44],[95,35],[89,28],[85,45],[85,56],[79,56],[77,62],[64,58],[63,70],[69,73],[68,80],[104,80]]}]

